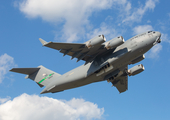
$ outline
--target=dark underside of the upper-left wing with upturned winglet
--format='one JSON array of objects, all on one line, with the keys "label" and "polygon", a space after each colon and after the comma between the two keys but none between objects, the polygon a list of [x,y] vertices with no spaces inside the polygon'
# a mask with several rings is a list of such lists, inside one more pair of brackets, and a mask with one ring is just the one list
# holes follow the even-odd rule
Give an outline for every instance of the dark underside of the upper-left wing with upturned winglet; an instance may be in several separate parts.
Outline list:
[{"label": "dark underside of the upper-left wing with upturned winglet", "polygon": [[104,45],[96,45],[92,48],[87,48],[83,43],[57,43],[57,42],[46,42],[43,39],[39,39],[43,46],[59,50],[65,55],[69,55],[73,58],[77,58],[77,62],[80,60],[91,62],[96,56],[106,51]]}]

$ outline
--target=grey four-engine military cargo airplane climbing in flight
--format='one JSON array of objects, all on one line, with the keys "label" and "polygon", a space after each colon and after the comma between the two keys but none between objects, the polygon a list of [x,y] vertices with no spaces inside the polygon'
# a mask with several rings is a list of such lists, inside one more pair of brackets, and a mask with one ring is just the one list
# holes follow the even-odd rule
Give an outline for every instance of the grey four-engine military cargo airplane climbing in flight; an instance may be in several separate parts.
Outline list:
[{"label": "grey four-engine military cargo airplane climbing in flight", "polygon": [[147,31],[136,35],[126,42],[122,36],[106,42],[104,35],[98,35],[85,43],[46,42],[39,39],[43,46],[59,50],[63,55],[85,61],[85,64],[60,75],[40,65],[36,68],[13,68],[10,71],[26,74],[35,81],[43,93],[56,93],[67,89],[107,80],[119,93],[128,89],[128,76],[144,71],[142,64],[128,69],[128,65],[142,61],[144,54],[161,42],[161,33]]}]

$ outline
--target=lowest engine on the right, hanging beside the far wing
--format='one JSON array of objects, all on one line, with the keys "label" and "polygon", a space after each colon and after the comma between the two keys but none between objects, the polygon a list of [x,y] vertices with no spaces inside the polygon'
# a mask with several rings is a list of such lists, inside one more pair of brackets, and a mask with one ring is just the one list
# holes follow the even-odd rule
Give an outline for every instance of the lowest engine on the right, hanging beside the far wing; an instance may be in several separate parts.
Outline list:
[{"label": "lowest engine on the right, hanging beside the far wing", "polygon": [[145,70],[144,66],[142,64],[140,64],[140,65],[134,66],[133,68],[130,68],[128,70],[128,74],[129,74],[129,76],[131,76],[131,75],[134,76],[136,74],[143,72],[144,70]]}]

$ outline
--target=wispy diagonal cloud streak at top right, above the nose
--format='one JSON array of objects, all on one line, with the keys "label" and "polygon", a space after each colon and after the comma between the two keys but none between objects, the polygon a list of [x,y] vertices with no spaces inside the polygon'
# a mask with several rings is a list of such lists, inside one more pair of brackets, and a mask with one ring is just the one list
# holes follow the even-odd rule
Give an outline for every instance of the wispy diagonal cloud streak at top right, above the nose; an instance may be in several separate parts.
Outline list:
[{"label": "wispy diagonal cloud streak at top right, above the nose", "polygon": [[154,10],[157,2],[158,0],[147,0],[145,6],[140,5],[140,7],[133,9],[131,14],[126,15],[125,19],[123,20],[123,23],[140,22],[143,18],[143,15],[148,10]]}]

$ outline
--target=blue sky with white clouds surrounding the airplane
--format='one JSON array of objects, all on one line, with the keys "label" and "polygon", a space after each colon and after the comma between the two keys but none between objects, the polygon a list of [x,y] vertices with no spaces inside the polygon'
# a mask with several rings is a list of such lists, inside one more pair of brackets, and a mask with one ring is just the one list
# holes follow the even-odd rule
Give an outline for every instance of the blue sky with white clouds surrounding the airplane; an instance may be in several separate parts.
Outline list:
[{"label": "blue sky with white clouds surrounding the airplane", "polygon": [[[169,120],[169,4],[167,0],[0,0],[0,120]],[[119,35],[126,41],[148,30],[161,32],[162,42],[137,63],[145,71],[129,77],[128,90],[121,94],[106,81],[40,94],[43,88],[34,81],[9,72],[43,65],[64,74],[84,64],[42,47],[39,38],[84,43],[104,34],[107,41]]]}]

